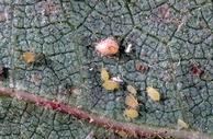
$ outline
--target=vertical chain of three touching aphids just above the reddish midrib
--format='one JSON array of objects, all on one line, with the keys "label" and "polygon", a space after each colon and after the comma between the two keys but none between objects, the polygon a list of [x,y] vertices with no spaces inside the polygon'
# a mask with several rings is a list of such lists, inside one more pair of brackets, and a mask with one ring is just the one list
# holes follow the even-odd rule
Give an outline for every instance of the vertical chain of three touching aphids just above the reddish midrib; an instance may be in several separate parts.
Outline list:
[{"label": "vertical chain of three touching aphids just above the reddish midrib", "polygon": [[139,115],[138,114],[139,103],[136,99],[137,91],[132,85],[127,85],[127,91],[128,91],[128,94],[125,97],[125,104],[127,107],[124,111],[124,116],[126,116],[130,119],[134,119],[134,118],[137,118]]}]

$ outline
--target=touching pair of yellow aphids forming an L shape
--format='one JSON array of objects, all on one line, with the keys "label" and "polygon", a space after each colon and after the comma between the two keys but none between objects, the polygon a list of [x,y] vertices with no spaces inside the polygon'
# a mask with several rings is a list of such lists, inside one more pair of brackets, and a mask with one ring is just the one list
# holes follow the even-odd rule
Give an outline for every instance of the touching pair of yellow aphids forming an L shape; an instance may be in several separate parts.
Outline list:
[{"label": "touching pair of yellow aphids forming an L shape", "polygon": [[110,74],[105,68],[101,69],[101,80],[103,81],[102,86],[108,91],[114,91],[120,88],[120,83],[117,81],[110,79]]}]

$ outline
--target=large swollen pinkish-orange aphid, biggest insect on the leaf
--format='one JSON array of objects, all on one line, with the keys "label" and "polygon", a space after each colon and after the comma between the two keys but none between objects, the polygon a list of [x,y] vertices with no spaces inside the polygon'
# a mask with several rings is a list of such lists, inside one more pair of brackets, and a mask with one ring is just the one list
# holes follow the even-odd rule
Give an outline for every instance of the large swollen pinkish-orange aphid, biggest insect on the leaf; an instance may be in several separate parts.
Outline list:
[{"label": "large swollen pinkish-orange aphid, biggest insect on the leaf", "polygon": [[101,56],[112,56],[119,53],[119,43],[113,37],[105,38],[96,45],[96,50]]}]

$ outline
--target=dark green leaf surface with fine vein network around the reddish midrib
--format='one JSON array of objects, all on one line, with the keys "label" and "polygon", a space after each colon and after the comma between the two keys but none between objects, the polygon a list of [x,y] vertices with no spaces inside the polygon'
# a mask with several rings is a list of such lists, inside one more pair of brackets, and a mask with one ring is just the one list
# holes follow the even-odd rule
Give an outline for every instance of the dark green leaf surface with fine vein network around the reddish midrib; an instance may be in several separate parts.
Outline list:
[{"label": "dark green leaf surface with fine vein network around the reddish midrib", "polygon": [[[0,61],[10,68],[2,85],[59,100],[117,121],[213,130],[213,3],[211,0],[1,0]],[[121,38],[132,53],[100,57],[94,44]],[[26,65],[24,51],[43,54]],[[144,66],[143,72],[138,65]],[[105,91],[100,70],[109,69],[137,89],[137,119],[124,118],[124,86]],[[146,71],[144,71],[146,69]],[[160,92],[152,101],[146,88]],[[0,100],[0,138],[83,138],[112,135],[74,117]],[[101,132],[101,134],[100,134]]]}]

